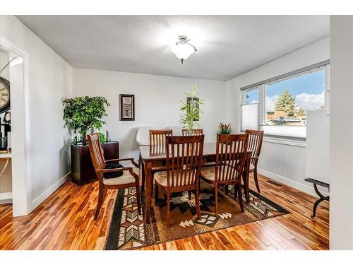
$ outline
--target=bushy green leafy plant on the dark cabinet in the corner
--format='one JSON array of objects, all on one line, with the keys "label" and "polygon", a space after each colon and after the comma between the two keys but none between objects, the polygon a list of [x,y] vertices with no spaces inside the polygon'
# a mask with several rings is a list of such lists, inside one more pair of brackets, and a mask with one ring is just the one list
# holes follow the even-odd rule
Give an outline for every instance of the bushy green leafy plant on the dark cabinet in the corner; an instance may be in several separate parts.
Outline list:
[{"label": "bushy green leafy plant on the dark cabinet in the corner", "polygon": [[109,102],[103,97],[80,97],[63,100],[64,120],[66,126],[82,136],[82,143],[86,144],[86,134],[91,128],[101,129],[107,116],[106,106]]}]

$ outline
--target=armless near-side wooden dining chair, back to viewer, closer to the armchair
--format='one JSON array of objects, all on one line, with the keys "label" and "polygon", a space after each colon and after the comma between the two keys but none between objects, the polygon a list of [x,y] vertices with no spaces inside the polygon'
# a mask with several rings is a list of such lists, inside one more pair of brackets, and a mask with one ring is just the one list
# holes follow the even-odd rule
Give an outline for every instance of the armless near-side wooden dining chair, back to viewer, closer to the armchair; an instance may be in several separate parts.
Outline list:
[{"label": "armless near-side wooden dining chair, back to viewer, closer to the armchair", "polygon": [[155,173],[155,201],[158,187],[167,192],[167,225],[170,225],[170,197],[174,192],[195,191],[198,220],[201,219],[200,191],[198,187],[203,155],[203,135],[167,136],[167,170]]}]

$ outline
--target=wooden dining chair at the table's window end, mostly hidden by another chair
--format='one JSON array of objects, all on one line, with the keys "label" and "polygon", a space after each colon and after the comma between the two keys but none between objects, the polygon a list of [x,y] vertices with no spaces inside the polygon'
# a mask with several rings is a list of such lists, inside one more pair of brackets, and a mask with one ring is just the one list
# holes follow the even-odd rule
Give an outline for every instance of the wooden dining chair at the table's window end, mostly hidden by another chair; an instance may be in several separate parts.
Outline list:
[{"label": "wooden dining chair at the table's window end, mostly hidden by another chair", "polygon": [[263,145],[263,131],[246,130],[245,133],[249,134],[248,150],[252,151],[249,173],[253,172],[253,180],[255,181],[258,193],[260,193],[260,186],[258,184],[258,158],[260,157],[261,146]]}]

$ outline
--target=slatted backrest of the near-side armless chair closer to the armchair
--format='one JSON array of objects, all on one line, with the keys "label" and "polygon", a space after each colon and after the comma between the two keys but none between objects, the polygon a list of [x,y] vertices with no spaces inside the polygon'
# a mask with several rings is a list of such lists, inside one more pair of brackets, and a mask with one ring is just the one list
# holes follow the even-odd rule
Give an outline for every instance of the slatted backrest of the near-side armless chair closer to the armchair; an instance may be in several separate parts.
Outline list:
[{"label": "slatted backrest of the near-side armless chair closer to the armchair", "polygon": [[167,136],[167,187],[196,184],[203,155],[203,135]]}]

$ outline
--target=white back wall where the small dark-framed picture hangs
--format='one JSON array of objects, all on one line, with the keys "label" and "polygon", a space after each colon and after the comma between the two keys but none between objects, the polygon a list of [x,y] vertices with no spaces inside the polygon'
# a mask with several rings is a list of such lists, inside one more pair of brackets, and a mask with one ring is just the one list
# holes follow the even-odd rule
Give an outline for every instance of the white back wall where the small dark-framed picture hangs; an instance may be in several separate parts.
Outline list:
[{"label": "white back wall where the small dark-framed picture hangs", "polygon": [[[186,99],[184,93],[191,92],[195,81],[198,97],[204,101],[200,124],[205,142],[215,142],[218,124],[227,119],[224,81],[75,68],[73,96],[107,98],[111,106],[107,108],[107,124],[101,131],[109,130],[112,140],[120,142],[121,158],[137,159],[138,126],[179,125],[180,100]],[[135,121],[119,121],[119,94],[135,95]]]}]

